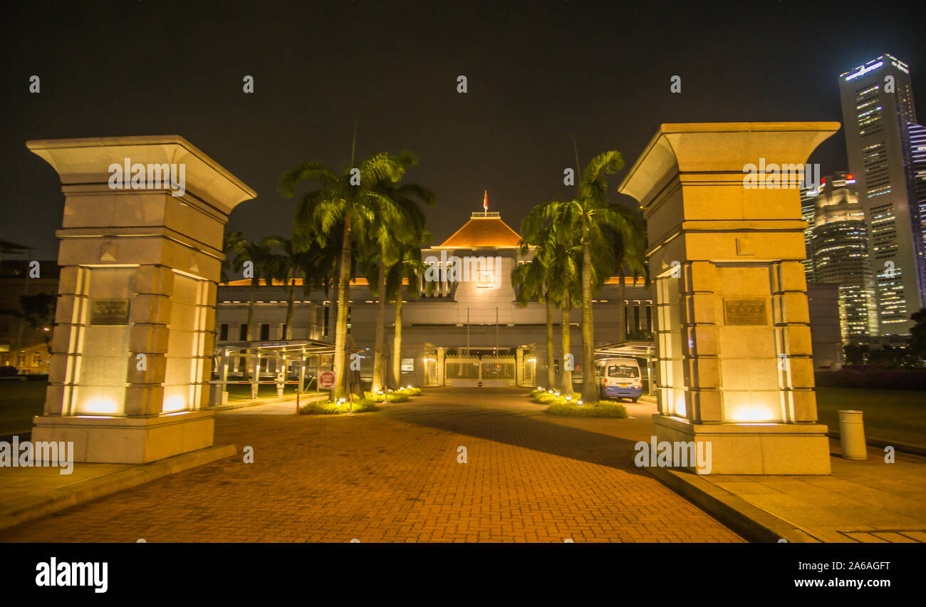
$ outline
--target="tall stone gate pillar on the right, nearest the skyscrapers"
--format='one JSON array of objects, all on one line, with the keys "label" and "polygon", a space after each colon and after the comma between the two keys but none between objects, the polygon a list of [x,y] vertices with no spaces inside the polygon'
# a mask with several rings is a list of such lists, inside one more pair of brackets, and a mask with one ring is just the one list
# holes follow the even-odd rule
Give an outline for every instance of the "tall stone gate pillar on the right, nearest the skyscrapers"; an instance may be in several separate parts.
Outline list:
[{"label": "tall stone gate pillar on the right, nearest the skyscrapers", "polygon": [[838,129],[663,124],[619,187],[644,209],[656,277],[657,439],[711,444],[709,468],[684,468],[830,474],[797,177]]}]

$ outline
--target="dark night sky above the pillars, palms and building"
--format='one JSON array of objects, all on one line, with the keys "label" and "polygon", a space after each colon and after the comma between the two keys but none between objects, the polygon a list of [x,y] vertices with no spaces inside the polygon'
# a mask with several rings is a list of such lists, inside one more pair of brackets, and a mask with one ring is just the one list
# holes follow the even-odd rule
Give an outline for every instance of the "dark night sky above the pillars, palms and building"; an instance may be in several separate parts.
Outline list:
[{"label": "dark night sky above the pillars, palms and building", "polygon": [[[407,181],[437,192],[440,243],[482,210],[483,190],[515,229],[570,196],[573,136],[582,164],[618,149],[629,167],[661,122],[841,121],[839,74],[885,52],[910,65],[924,116],[926,45],[906,3],[239,4],[5,4],[0,238],[56,257],[64,196],[30,139],[181,134],[257,190],[230,228],[259,239],[290,234],[280,173],[346,166],[356,119],[359,156],[419,156]],[[811,160],[847,169],[843,133]],[[611,189],[632,205],[616,194],[625,172]]]}]

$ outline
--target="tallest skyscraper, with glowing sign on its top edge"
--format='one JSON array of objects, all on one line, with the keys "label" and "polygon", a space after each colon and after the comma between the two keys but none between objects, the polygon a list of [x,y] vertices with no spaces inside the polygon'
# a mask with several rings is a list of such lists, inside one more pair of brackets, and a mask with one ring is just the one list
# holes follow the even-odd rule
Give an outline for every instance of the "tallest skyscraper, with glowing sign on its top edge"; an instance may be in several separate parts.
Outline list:
[{"label": "tallest skyscraper, with glowing sign on its top edge", "polygon": [[885,54],[842,74],[839,90],[849,171],[870,230],[878,332],[888,339],[908,335],[910,314],[926,300],[923,223],[911,153],[911,137],[920,132],[909,68]]}]

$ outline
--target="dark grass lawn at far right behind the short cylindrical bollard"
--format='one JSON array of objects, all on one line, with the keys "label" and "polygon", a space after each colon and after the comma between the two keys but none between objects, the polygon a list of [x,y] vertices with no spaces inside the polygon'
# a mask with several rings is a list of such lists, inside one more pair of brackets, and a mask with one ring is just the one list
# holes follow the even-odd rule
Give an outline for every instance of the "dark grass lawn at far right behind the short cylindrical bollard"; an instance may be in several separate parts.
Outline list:
[{"label": "dark grass lawn at far right behind the short cylindrical bollard", "polygon": [[851,387],[817,388],[820,423],[839,431],[843,409],[863,411],[865,436],[926,447],[926,392],[869,390]]}]

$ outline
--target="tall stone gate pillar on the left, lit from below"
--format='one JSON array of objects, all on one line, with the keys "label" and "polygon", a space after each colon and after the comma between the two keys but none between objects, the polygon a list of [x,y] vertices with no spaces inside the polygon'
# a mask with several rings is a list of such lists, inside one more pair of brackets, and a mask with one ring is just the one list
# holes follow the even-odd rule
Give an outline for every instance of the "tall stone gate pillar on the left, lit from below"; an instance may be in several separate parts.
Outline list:
[{"label": "tall stone gate pillar on the left, lit from below", "polygon": [[211,446],[222,235],[256,193],[178,135],[26,145],[65,195],[55,354],[32,439],[73,441],[78,462]]}]

